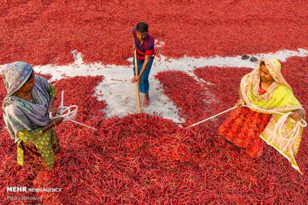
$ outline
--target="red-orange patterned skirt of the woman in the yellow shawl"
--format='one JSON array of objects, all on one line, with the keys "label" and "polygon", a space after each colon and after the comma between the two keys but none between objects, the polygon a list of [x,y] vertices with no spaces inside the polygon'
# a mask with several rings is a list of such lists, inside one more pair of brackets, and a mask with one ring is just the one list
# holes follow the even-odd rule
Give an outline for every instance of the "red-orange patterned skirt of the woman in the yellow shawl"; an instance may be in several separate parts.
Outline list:
[{"label": "red-orange patterned skirt of the woman in the yellow shawl", "polygon": [[228,141],[246,149],[251,157],[259,157],[263,152],[264,141],[259,137],[270,120],[271,114],[255,112],[248,108],[232,110],[222,123],[219,134]]}]

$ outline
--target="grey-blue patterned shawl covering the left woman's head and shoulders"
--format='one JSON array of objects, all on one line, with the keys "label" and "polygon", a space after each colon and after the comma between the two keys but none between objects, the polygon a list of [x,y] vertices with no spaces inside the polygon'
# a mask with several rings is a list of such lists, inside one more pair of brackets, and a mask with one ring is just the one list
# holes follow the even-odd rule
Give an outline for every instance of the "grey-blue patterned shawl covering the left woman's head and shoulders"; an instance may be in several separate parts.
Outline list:
[{"label": "grey-blue patterned shawl covering the left woman's head and shoulders", "polygon": [[3,82],[8,94],[3,100],[3,119],[12,138],[18,131],[47,125],[50,121],[47,108],[49,106],[49,86],[44,77],[35,76],[35,85],[31,91],[36,103],[26,101],[14,95],[29,79],[33,68],[25,62],[5,64],[2,69]]}]

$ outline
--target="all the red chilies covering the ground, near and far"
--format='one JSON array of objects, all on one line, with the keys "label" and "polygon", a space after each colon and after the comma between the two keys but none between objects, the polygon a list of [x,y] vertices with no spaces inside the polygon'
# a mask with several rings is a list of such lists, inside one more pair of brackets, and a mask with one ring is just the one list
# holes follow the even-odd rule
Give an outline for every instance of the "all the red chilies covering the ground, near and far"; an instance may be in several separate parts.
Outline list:
[{"label": "all the red chilies covering the ground, near and far", "polygon": [[[157,56],[167,60],[306,49],[305,56],[281,64],[285,80],[308,110],[307,11],[305,1],[280,0],[4,1],[0,65],[18,60],[64,66],[74,62],[73,50],[82,53],[85,64],[131,65],[130,31],[144,21],[164,43]],[[55,106],[65,90],[65,103],[78,106],[75,120],[97,131],[71,122],[57,125],[61,151],[55,165],[51,171],[35,171],[17,164],[16,144],[1,117],[0,204],[307,204],[307,128],[296,156],[303,175],[270,145],[264,145],[260,158],[250,158],[224,140],[218,128],[228,113],[185,129],[234,106],[241,77],[251,71],[208,66],[192,69],[192,75],[168,69],[157,73],[157,89],[185,119],[180,126],[155,113],[107,117],[109,105],[94,91],[106,81],[103,75],[54,80]],[[2,104],[2,77],[0,87]],[[8,192],[9,186],[61,191]]]}]

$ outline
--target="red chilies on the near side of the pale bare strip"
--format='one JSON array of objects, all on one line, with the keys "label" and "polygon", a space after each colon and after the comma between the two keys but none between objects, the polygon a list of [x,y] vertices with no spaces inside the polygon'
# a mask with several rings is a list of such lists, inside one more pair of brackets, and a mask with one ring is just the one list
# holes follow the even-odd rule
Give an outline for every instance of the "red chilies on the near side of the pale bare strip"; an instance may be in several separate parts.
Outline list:
[{"label": "red chilies on the near side of the pale bare strip", "polygon": [[[307,110],[307,58],[283,63],[285,79]],[[194,70],[202,83],[179,71],[157,74],[164,93],[181,108],[185,125],[233,106],[240,78],[251,69],[205,67]],[[171,75],[172,74],[172,75]],[[170,81],[172,79],[172,81]],[[184,80],[185,79],[185,80]],[[94,88],[103,77],[72,77],[54,82],[57,105],[79,106],[77,121],[57,126],[61,152],[49,171],[16,164],[16,145],[0,132],[0,198],[42,197],[43,204],[305,204],[307,129],[298,152],[297,173],[272,147],[253,159],[218,136],[227,114],[191,129],[149,114],[107,119]],[[179,83],[181,82],[181,83]],[[232,83],[231,83],[232,82]],[[2,101],[5,95],[0,82]],[[155,102],[153,102],[155,103]],[[198,107],[198,108],[197,108]],[[3,120],[1,119],[1,128]],[[7,193],[7,186],[61,188],[61,192]],[[16,200],[20,204],[23,200]]]}]

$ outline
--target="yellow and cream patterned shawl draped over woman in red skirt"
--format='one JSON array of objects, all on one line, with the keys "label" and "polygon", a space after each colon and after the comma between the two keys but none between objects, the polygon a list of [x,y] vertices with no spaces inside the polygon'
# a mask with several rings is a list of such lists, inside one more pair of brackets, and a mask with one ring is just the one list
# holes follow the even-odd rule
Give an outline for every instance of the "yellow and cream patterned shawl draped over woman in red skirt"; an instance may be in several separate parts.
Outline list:
[{"label": "yellow and cream patterned shawl draped over woman in red skirt", "polygon": [[[268,88],[268,91],[264,93],[264,95],[259,95],[261,62],[265,63],[270,75],[274,78],[274,82],[271,84],[270,88]],[[277,60],[261,59],[257,69],[242,77],[240,91],[246,105],[263,108],[266,110],[255,110],[257,112],[272,114],[272,112],[268,111],[287,113],[295,110],[302,110],[305,114],[305,110],[294,96],[292,88],[283,78],[283,75],[281,74],[281,64]],[[274,128],[280,117],[281,114],[272,114],[266,128],[264,128],[263,132],[261,132],[260,137],[266,141],[268,145],[271,145],[277,149],[280,154],[285,156],[285,158],[291,162],[292,167],[300,172],[295,157],[300,145],[303,127],[300,127],[300,132],[294,136],[294,138],[290,139],[288,134],[290,133],[290,130],[294,128],[295,121],[291,117],[288,117],[287,121],[285,121],[283,129],[281,130],[283,136],[289,137],[289,139],[285,139],[278,133],[274,133]]]}]

